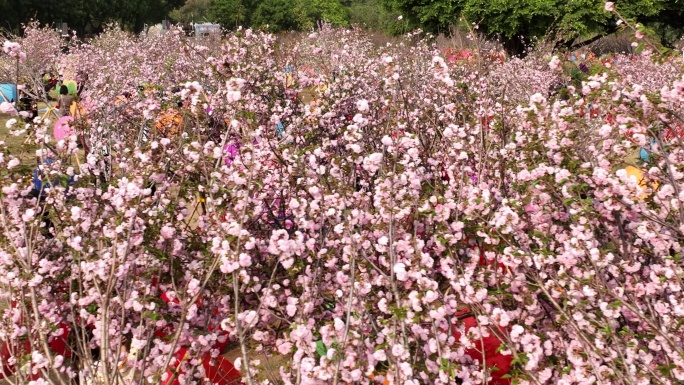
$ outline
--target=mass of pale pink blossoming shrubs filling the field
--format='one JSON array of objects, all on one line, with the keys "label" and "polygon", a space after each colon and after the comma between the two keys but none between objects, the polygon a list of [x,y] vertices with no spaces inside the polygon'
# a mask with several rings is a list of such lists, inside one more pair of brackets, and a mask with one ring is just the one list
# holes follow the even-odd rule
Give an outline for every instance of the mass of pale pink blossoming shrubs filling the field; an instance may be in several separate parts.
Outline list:
[{"label": "mass of pale pink blossoming shrubs filling the field", "polygon": [[74,135],[32,123],[50,187],[1,174],[7,375],[199,384],[235,344],[248,384],[273,383],[255,352],[285,384],[684,381],[680,59],[556,98],[533,58],[277,47],[110,30],[59,54],[87,79]]}]

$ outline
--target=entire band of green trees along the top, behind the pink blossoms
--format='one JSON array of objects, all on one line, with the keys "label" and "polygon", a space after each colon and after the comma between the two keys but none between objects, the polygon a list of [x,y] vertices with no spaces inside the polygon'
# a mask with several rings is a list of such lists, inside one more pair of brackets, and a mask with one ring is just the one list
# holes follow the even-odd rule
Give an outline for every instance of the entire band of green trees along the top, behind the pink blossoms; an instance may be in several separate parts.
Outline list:
[{"label": "entire band of green trees along the top, behind the pink blossoms", "polygon": [[[432,33],[477,26],[509,53],[540,39],[570,48],[625,28],[604,11],[604,0],[0,0],[3,27],[18,31],[30,19],[67,22],[79,34],[97,33],[114,21],[140,32],[168,18],[175,23],[212,21],[228,29],[267,27],[308,30],[320,21],[359,25],[387,34],[415,28]],[[623,0],[619,12],[667,47],[684,32],[684,0]],[[401,17],[400,17],[401,16]]]}]

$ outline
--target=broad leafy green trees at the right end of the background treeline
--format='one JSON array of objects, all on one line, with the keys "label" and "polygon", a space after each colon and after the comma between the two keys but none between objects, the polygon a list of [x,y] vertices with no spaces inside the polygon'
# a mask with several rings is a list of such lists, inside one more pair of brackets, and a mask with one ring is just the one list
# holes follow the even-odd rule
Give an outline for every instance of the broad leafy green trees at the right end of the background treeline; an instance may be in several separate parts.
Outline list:
[{"label": "broad leafy green trees at the right end of the background treeline", "polygon": [[[668,20],[681,27],[683,0],[617,1],[627,17],[642,23]],[[578,37],[614,32],[616,19],[605,12],[604,0],[384,0],[409,18],[410,26],[447,31],[458,22],[475,23],[489,36],[501,38],[511,54],[523,54],[532,39],[550,36],[570,47]]]}]

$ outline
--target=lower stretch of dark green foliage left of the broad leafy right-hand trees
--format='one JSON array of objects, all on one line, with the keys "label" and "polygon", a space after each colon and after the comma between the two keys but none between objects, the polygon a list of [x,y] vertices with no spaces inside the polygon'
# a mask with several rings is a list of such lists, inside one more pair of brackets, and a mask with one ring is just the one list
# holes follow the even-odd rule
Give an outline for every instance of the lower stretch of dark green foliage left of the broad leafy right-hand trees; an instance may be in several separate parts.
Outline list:
[{"label": "lower stretch of dark green foliage left of the broad leafy right-hand trees", "polygon": [[163,19],[183,25],[219,22],[229,29],[269,25],[272,32],[309,30],[325,21],[337,26],[358,23],[391,32],[390,19],[398,14],[390,14],[379,0],[0,0],[0,15],[0,28],[14,32],[19,32],[22,23],[37,18],[57,27],[67,23],[70,30],[84,35],[101,32],[112,22],[137,33]]}]

